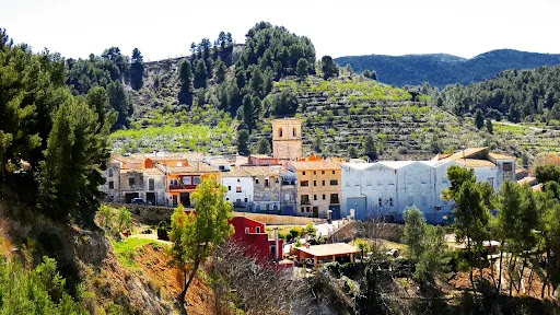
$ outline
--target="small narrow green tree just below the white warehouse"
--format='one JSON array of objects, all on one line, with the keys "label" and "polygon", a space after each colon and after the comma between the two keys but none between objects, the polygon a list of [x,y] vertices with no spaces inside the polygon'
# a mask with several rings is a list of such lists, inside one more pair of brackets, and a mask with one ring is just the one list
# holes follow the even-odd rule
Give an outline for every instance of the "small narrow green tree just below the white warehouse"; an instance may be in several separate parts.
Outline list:
[{"label": "small narrow green tree just below the white warehouse", "polygon": [[418,261],[424,252],[425,219],[424,214],[416,207],[407,208],[404,212],[405,232],[402,243],[408,245],[410,258]]}]

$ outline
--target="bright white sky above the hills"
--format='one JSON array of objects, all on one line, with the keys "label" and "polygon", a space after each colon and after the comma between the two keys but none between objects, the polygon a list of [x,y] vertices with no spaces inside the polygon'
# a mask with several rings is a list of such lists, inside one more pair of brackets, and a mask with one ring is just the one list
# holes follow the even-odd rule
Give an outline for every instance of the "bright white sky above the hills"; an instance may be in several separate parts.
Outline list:
[{"label": "bright white sky above the hills", "polygon": [[68,58],[138,47],[144,61],[189,54],[220,31],[243,43],[259,21],[310,37],[317,58],[513,48],[560,54],[559,0],[0,0],[0,27]]}]

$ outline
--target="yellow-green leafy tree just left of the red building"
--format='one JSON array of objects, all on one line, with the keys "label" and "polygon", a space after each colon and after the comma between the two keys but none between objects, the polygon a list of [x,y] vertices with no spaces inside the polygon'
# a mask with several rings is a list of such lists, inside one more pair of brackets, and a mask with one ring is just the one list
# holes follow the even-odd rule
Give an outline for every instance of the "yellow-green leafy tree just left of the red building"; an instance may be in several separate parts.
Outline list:
[{"label": "yellow-green leafy tree just left of the red building", "polygon": [[179,305],[184,314],[187,313],[185,296],[198,268],[215,246],[233,234],[230,224],[233,206],[224,201],[224,196],[225,187],[212,177],[205,177],[192,194],[195,211],[186,214],[183,206],[179,206],[172,215],[170,241],[173,243],[174,261],[183,271]]}]

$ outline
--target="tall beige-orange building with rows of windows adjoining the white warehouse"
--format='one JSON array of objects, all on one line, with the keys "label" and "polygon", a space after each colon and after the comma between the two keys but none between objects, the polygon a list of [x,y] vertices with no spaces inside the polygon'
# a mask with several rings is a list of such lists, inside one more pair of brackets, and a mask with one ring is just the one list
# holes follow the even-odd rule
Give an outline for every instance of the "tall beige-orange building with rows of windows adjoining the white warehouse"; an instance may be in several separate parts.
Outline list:
[{"label": "tall beige-orange building with rows of windows adjoining the white warehouse", "polygon": [[298,178],[298,207],[294,214],[328,218],[329,210],[340,217],[341,168],[336,162],[312,160],[290,162]]}]

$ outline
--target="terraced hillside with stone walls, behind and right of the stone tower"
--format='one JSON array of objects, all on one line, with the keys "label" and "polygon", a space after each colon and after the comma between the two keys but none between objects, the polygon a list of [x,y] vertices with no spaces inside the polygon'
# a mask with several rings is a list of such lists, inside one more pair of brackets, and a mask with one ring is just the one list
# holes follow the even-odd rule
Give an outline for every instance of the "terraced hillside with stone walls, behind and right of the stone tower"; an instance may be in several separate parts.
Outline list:
[{"label": "terraced hillside with stone walls, behind and right of the stone tower", "polygon": [[[470,119],[460,119],[428,105],[425,95],[362,78],[305,82],[288,79],[275,85],[269,97],[290,91],[298,98],[296,117],[304,120],[304,150],[325,155],[348,156],[349,147],[362,151],[364,138],[376,140],[380,159],[429,159],[438,150],[452,152],[465,147],[489,145],[530,161],[538,152],[558,151],[560,135],[525,126],[494,124],[493,133],[478,130]],[[272,102],[270,102],[272,103]],[[270,137],[262,124],[253,141]]]}]

